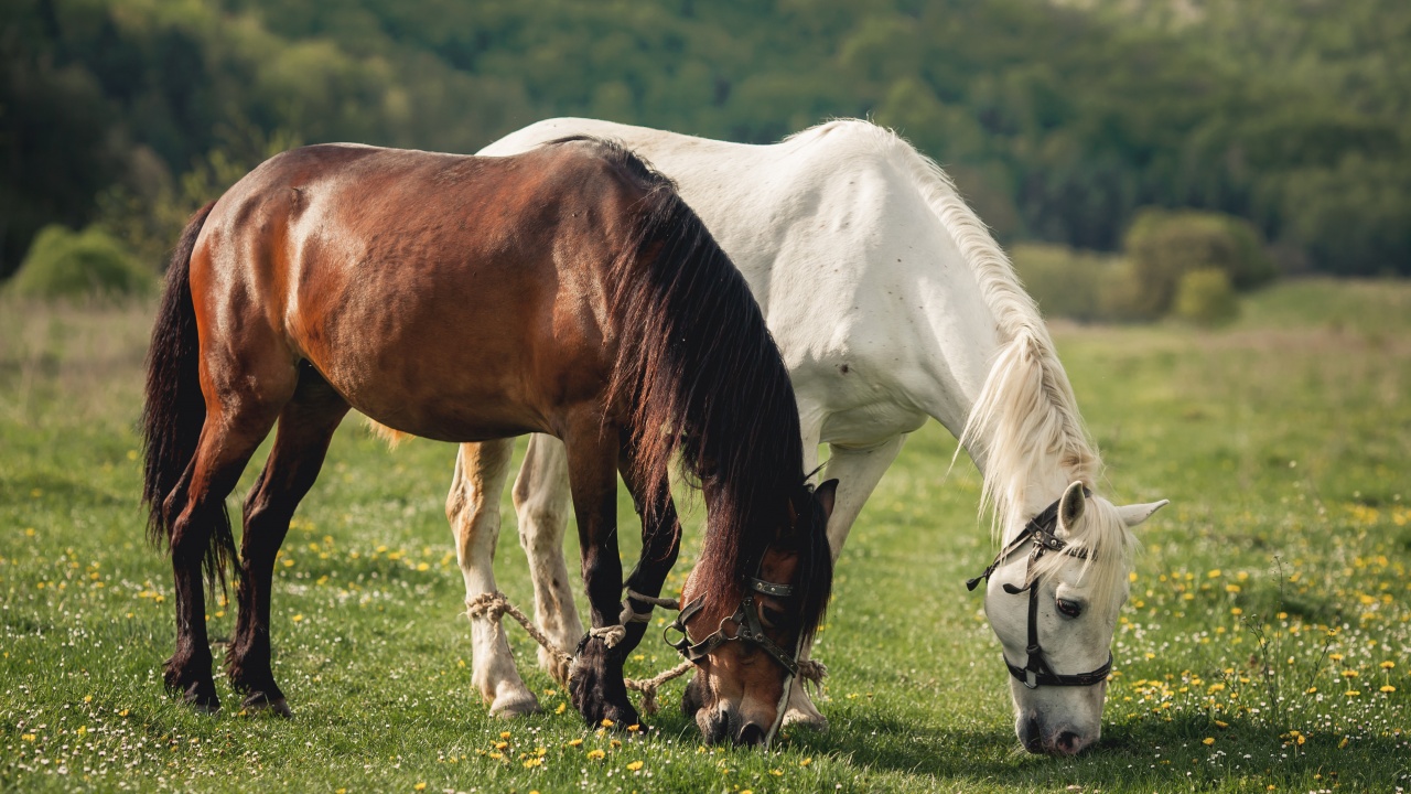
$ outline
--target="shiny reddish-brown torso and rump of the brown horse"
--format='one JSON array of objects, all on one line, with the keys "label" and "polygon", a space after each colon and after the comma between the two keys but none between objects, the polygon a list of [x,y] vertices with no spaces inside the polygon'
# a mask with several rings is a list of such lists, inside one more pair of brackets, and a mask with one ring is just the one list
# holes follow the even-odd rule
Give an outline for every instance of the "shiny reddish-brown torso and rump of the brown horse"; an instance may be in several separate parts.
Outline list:
[{"label": "shiny reddish-brown torso and rump of the brown horse", "polygon": [[[271,158],[222,196],[192,257],[210,380],[278,383],[308,362],[395,429],[553,432],[610,376],[608,273],[646,189],[591,143],[495,160],[346,144]],[[258,342],[240,362],[214,343],[229,329]]]}]

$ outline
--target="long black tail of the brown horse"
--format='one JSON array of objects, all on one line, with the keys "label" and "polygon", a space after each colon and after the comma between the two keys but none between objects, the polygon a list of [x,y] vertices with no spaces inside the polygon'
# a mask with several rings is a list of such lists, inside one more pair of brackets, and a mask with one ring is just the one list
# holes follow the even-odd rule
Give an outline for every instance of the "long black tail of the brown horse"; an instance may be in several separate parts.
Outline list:
[{"label": "long black tail of the brown horse", "polygon": [[[166,504],[185,478],[200,428],[206,422],[206,400],[200,393],[196,311],[190,297],[190,253],[214,202],[207,203],[182,232],[166,266],[166,288],[147,350],[147,403],[143,407],[143,451],[147,456],[143,503],[147,504],[147,537],[171,547],[172,521],[185,500]],[[220,510],[206,548],[206,578],[226,583],[226,564],[236,557],[230,517]]]}]

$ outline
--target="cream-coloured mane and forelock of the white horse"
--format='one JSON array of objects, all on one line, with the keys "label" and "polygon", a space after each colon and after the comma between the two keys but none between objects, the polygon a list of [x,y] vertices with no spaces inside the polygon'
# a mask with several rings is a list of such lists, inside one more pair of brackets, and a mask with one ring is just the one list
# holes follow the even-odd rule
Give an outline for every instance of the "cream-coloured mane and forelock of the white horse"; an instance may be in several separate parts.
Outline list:
[{"label": "cream-coloured mane and forelock of the white horse", "polygon": [[[986,507],[993,507],[991,528],[998,538],[1006,527],[1019,527],[1029,520],[1024,514],[1027,489],[1031,483],[1048,482],[1048,466],[1055,463],[1055,458],[1064,472],[1064,483],[1077,480],[1089,489],[1102,470],[1102,459],[1084,427],[1048,326],[989,229],[961,199],[955,184],[934,160],[892,130],[871,123],[856,126],[872,130],[878,148],[910,177],[921,199],[955,240],[995,315],[1000,348],[959,444],[982,455],[979,510],[983,514]],[[1094,596],[1115,596],[1119,579],[1130,569],[1136,547],[1116,507],[1106,499],[1089,499],[1081,531],[1068,541],[1075,550],[1088,552],[1084,576],[1094,576]],[[1034,574],[1050,574],[1068,559],[1058,554],[1044,555]]]}]

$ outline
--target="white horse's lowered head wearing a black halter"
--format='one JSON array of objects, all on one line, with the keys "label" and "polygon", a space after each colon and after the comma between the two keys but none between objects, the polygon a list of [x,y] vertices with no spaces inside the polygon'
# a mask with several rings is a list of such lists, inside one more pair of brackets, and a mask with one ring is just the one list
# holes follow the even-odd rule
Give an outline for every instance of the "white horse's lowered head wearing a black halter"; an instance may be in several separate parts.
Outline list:
[{"label": "white horse's lowered head wearing a black halter", "polygon": [[1116,507],[1075,482],[1051,523],[1041,516],[1000,552],[985,613],[1003,646],[1015,732],[1029,752],[1072,754],[1102,735],[1109,648],[1132,572],[1130,530],[1165,504]]}]

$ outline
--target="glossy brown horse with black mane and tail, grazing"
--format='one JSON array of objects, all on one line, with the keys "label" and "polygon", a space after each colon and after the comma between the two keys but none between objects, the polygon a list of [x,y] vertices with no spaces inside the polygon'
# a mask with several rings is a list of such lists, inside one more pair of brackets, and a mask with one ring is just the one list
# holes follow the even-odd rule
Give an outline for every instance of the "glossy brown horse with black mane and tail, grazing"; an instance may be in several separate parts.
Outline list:
[{"label": "glossy brown horse with black mane and tail, grazing", "polygon": [[[230,684],[247,708],[289,713],[270,664],[275,552],[349,408],[442,441],[564,441],[594,626],[571,692],[588,723],[638,722],[622,661],[650,608],[619,600],[619,469],[642,514],[631,591],[659,595],[676,559],[679,455],[708,511],[693,630],[739,632],[731,616],[746,603],[741,624],[797,648],[821,619],[834,483],[806,485],[779,350],[700,219],[621,147],[477,158],[315,146],[267,161],[190,220],[152,332],[143,424],[150,530],[176,589],[165,678],[196,708],[220,704],[202,568],[224,586],[236,561]],[[224,497],[277,422],[237,554]],[[792,592],[755,592],[759,578]],[[707,737],[772,735],[792,675],[761,647],[698,658]]]}]

